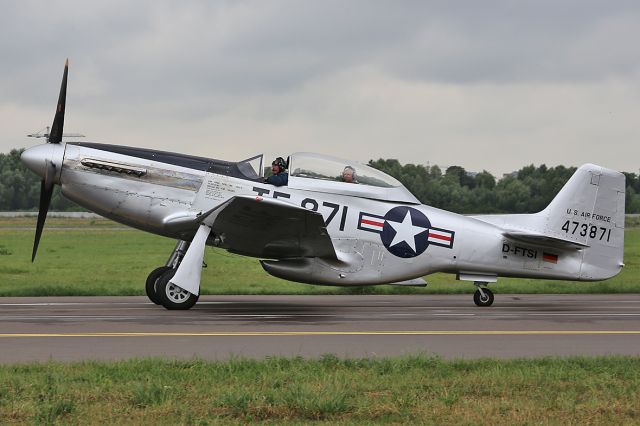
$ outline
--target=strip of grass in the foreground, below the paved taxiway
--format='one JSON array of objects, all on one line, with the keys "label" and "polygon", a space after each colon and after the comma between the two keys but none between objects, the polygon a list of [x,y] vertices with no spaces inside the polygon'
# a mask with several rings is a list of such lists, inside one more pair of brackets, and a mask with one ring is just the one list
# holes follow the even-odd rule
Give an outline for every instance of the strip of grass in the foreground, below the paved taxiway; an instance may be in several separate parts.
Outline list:
[{"label": "strip of grass in the foreground, below the paved taxiway", "polygon": [[640,358],[0,366],[2,424],[632,424]]}]

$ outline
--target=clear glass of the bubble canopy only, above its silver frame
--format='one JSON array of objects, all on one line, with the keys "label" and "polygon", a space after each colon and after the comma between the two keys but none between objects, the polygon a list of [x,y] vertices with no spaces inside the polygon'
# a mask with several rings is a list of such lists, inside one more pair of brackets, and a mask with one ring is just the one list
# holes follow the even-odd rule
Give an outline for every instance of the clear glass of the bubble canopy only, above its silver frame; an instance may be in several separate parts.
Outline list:
[{"label": "clear glass of the bubble canopy only, above its silver frame", "polygon": [[391,176],[354,161],[320,154],[298,153],[291,158],[289,173],[294,177],[321,179],[360,185],[395,188],[402,186]]}]

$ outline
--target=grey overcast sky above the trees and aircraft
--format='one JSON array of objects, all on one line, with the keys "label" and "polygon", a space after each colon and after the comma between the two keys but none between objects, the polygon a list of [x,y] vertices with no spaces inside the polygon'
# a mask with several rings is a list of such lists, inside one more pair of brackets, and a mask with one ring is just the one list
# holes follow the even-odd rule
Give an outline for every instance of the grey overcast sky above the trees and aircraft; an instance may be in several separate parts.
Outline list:
[{"label": "grey overcast sky above the trees and aircraft", "polygon": [[4,1],[0,152],[65,131],[227,160],[640,168],[637,1]]}]

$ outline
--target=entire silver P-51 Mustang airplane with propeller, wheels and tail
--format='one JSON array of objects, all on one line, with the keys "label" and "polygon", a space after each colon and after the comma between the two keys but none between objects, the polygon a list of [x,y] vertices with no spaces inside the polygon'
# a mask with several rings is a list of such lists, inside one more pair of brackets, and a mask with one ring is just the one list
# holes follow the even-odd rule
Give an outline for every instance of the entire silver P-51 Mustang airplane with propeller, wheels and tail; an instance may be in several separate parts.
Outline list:
[{"label": "entire silver P-51 Mustang airplane with propeller, wheels and tail", "polygon": [[[288,280],[354,286],[448,272],[477,286],[490,306],[498,277],[604,280],[623,264],[624,175],[580,167],[535,214],[461,216],[421,204],[396,179],[363,164],[295,153],[288,185],[262,179],[262,156],[239,162],[98,143],[62,143],[65,64],[48,143],[22,154],[42,177],[32,260],[54,184],[81,206],[174,238],[149,274],[149,298],[189,309],[200,293],[207,245],[261,260]],[[353,182],[338,179],[346,166]],[[422,281],[424,282],[424,281]]]}]

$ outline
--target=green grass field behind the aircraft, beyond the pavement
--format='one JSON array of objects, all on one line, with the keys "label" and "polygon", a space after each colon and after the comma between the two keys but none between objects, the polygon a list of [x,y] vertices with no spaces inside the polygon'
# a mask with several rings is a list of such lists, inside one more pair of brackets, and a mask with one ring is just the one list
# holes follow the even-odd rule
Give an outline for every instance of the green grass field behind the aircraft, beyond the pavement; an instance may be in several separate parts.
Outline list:
[{"label": "green grass field behind the aircraft, beyond the pavement", "polygon": [[[0,218],[0,296],[142,295],[147,274],[163,265],[173,240],[104,219],[50,218],[31,263],[35,218]],[[72,227],[74,229],[65,229]],[[447,274],[425,277],[426,288],[311,286],[269,276],[256,259],[207,248],[203,294],[472,293],[471,283]],[[626,267],[603,282],[499,279],[497,293],[640,292],[640,227],[625,233]]]}]

